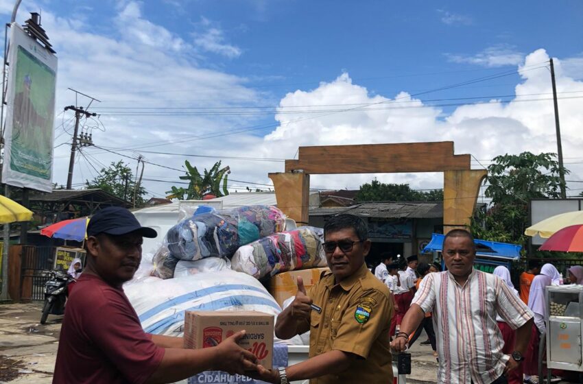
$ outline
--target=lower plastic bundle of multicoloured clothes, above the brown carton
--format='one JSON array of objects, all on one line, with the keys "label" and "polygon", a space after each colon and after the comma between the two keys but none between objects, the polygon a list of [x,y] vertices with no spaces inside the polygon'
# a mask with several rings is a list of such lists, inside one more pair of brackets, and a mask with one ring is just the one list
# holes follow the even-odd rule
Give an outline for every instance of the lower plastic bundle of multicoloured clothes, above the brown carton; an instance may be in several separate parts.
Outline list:
[{"label": "lower plastic bundle of multicoloured clothes, above the brown carton", "polygon": [[231,259],[231,267],[255,278],[325,267],[326,256],[319,233],[318,228],[300,227],[243,245]]}]

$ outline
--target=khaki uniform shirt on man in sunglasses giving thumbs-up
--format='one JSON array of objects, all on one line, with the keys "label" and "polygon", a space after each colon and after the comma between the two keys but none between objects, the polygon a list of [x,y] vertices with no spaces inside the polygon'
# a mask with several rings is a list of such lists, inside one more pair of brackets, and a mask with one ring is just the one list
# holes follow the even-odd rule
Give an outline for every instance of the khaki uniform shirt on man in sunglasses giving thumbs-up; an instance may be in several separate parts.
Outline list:
[{"label": "khaki uniform shirt on man in sunglasses giving thumbs-up", "polygon": [[321,313],[311,311],[310,355],[342,350],[357,355],[348,370],[311,379],[311,384],[392,383],[390,292],[365,264],[339,284],[331,272],[307,292]]}]

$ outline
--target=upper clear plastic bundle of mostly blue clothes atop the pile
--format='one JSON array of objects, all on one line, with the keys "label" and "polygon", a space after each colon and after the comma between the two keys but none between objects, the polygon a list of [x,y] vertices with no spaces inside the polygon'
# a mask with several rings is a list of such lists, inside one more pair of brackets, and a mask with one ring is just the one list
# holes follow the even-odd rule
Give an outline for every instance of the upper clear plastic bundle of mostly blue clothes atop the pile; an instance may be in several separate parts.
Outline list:
[{"label": "upper clear plastic bundle of mostly blue clothes atop the pile", "polygon": [[272,235],[284,226],[285,215],[274,206],[243,206],[195,214],[172,227],[166,241],[174,259],[230,258],[241,245]]}]

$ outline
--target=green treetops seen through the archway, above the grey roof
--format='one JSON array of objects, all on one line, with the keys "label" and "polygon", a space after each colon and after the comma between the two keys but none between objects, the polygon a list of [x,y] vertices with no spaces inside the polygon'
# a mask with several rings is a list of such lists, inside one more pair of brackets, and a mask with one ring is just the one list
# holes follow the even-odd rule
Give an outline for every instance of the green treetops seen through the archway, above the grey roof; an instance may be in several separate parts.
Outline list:
[{"label": "green treetops seen through the archway, above the grey roof", "polygon": [[409,184],[385,184],[374,179],[360,186],[355,199],[357,202],[442,202],[443,191],[415,191]]}]

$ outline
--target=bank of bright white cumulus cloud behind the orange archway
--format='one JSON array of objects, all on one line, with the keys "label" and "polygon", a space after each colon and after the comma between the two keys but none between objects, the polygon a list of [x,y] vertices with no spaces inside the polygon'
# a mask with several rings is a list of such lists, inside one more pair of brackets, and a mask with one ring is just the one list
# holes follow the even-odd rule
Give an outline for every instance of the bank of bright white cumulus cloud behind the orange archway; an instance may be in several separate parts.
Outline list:
[{"label": "bank of bright white cumulus cloud behind the orange archway", "polygon": [[[549,71],[543,67],[547,53],[539,49],[528,55],[521,64],[523,81],[516,86],[516,97],[510,103],[490,100],[456,108],[444,121],[438,119],[442,110],[425,106],[422,101],[399,93],[394,98],[368,95],[366,88],[352,84],[343,74],[335,81],[322,83],[311,91],[287,94],[276,115],[280,125],[265,137],[265,156],[285,154],[293,158],[298,146],[342,145],[366,143],[407,143],[422,141],[454,141],[456,154],[472,154],[475,159],[491,159],[499,154],[556,152],[554,109],[551,97]],[[543,63],[543,64],[541,64]],[[542,68],[541,68],[542,67]],[[556,60],[557,73],[562,62]],[[563,95],[583,97],[583,82],[558,75],[557,86]],[[580,93],[574,93],[580,91]],[[546,95],[532,96],[533,93]],[[525,99],[541,101],[521,101]],[[353,112],[298,115],[289,113],[294,106],[316,107],[330,104],[370,104]],[[581,99],[560,99],[562,146],[565,158],[578,157],[583,161],[583,121]],[[411,108],[420,107],[420,108]],[[347,107],[353,108],[353,107]],[[384,109],[383,109],[384,108]],[[299,109],[299,108],[298,108]],[[306,108],[302,108],[305,110]],[[368,110],[367,110],[368,109]],[[286,112],[287,111],[287,112]],[[309,117],[313,117],[309,119]],[[571,163],[576,163],[573,160]],[[487,166],[488,161],[481,161]],[[569,162],[565,162],[569,163]],[[473,160],[476,168],[481,168]],[[581,180],[582,165],[567,164],[570,180]],[[440,173],[374,175],[385,182],[409,182],[415,188],[442,185]],[[313,185],[358,187],[370,181],[373,175],[313,176]],[[573,187],[576,188],[576,187]],[[578,194],[578,191],[571,194]]]}]

